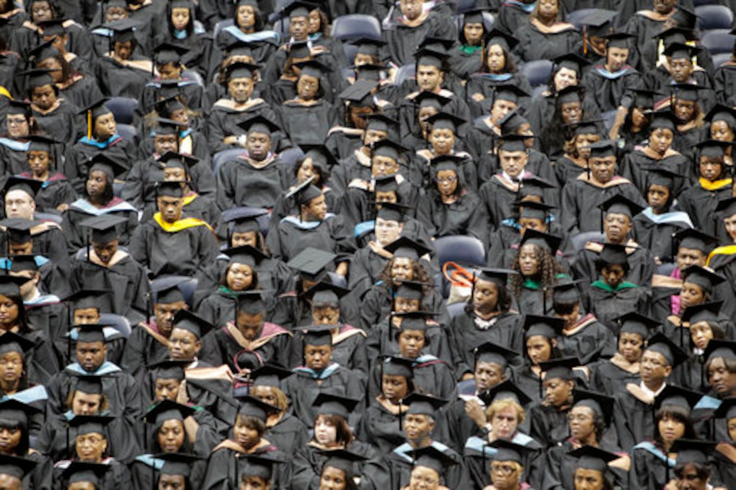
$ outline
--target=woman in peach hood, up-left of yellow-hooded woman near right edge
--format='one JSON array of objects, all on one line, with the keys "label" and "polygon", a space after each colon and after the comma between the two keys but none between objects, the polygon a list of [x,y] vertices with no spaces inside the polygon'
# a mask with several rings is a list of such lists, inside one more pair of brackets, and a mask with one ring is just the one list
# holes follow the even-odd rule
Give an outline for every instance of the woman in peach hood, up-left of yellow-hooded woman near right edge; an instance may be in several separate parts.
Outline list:
[{"label": "woman in peach hood, up-left of yellow-hooded woman near right edge", "polygon": [[646,196],[652,172],[663,168],[674,174],[673,199],[689,186],[693,175],[690,159],[672,148],[676,119],[673,113],[665,110],[654,113],[649,123],[648,142],[623,157],[620,174],[631,180],[640,193]]}]

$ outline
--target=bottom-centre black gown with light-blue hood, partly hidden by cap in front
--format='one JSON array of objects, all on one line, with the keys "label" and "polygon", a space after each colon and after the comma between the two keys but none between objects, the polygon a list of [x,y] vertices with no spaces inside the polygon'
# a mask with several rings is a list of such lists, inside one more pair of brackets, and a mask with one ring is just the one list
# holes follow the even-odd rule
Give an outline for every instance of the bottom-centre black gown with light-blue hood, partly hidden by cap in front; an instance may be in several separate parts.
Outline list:
[{"label": "bottom-centre black gown with light-blue hood, partly hidden by cap in front", "polygon": [[[458,461],[458,464],[450,466],[444,475],[440,475],[443,484],[449,489],[469,489],[470,477],[460,455],[440,442],[433,441],[432,445]],[[406,452],[412,449],[411,445],[405,442],[380,460],[369,461],[361,475],[361,490],[403,489],[408,485],[414,460]]]}]

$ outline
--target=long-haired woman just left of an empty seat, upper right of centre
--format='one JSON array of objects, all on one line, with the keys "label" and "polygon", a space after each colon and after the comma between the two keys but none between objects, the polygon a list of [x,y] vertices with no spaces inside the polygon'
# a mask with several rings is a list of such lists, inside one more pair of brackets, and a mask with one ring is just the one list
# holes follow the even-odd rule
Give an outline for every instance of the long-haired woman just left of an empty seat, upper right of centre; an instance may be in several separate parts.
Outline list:
[{"label": "long-haired woman just left of an empty seat, upper right of centre", "polygon": [[[524,93],[531,93],[531,85],[519,74],[512,52],[519,40],[496,27],[486,34],[484,43],[480,69],[464,77],[465,96],[473,118],[491,113],[495,90],[500,85],[515,85]],[[527,107],[528,103],[528,96],[522,97],[520,105]]]}]

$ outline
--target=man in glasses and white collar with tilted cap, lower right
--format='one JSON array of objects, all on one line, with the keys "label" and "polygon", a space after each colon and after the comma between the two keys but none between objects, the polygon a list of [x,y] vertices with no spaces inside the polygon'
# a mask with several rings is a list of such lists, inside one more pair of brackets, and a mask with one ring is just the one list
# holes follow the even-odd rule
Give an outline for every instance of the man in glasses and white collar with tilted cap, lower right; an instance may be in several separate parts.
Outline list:
[{"label": "man in glasses and white collar with tilted cap, lower right", "polygon": [[622,450],[654,438],[654,397],[667,386],[672,369],[686,359],[687,354],[665,335],[649,338],[640,361],[641,383],[629,383],[626,391],[615,394],[613,423]]}]

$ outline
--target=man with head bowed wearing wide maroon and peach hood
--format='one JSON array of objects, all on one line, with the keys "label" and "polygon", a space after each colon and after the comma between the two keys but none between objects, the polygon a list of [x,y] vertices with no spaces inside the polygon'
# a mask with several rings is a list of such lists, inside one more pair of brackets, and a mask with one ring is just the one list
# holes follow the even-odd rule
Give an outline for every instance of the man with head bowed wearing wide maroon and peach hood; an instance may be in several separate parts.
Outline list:
[{"label": "man with head bowed wearing wide maroon and peach hood", "polygon": [[[202,360],[233,372],[249,372],[263,363],[289,368],[292,334],[277,324],[266,322],[266,294],[262,290],[240,292],[236,308],[226,323],[216,325],[202,340]],[[223,316],[223,319],[226,316]]]}]

